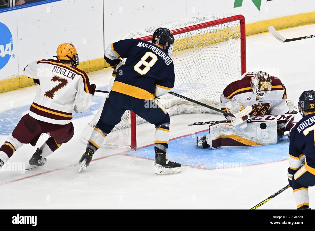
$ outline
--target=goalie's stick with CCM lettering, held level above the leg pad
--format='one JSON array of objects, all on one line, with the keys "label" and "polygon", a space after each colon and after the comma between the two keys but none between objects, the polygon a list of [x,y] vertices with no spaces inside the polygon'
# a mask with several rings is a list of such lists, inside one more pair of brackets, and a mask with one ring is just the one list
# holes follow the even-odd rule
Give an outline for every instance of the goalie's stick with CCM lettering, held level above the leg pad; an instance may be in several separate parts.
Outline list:
[{"label": "goalie's stick with CCM lettering, held level above the leg pad", "polygon": [[[294,118],[295,114],[282,114],[282,115],[263,115],[263,116],[253,116],[250,117],[249,122],[265,122],[265,121],[279,121],[279,120],[289,120]],[[205,121],[205,122],[189,122],[188,126],[193,125],[207,125],[216,123],[231,123],[230,120],[217,120],[217,121]]]}]

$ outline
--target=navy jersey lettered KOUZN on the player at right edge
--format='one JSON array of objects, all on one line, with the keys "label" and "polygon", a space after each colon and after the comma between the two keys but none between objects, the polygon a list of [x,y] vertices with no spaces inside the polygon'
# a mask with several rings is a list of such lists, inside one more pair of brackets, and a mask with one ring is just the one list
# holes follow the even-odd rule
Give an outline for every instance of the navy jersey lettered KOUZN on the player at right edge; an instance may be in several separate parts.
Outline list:
[{"label": "navy jersey lettered KOUZN on the player at right edge", "polygon": [[295,160],[300,160],[301,157],[305,155],[306,170],[315,175],[314,130],[315,130],[315,113],[311,113],[304,116],[291,129],[289,157]]}]

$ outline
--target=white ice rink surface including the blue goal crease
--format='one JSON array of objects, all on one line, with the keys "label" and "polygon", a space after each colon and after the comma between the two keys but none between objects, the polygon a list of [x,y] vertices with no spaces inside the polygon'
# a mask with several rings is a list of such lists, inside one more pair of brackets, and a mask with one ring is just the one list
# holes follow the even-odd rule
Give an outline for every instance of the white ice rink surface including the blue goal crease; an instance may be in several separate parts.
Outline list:
[{"label": "white ice rink surface including the blue goal crease", "polygon": [[[280,33],[290,38],[309,35],[314,30],[315,25],[307,25]],[[248,71],[261,69],[278,76],[287,88],[288,99],[294,100],[295,105],[302,91],[314,90],[315,39],[280,43],[269,33],[263,33],[246,40]],[[88,75],[97,88],[105,89],[111,70]],[[27,113],[36,88],[0,94],[3,103],[0,143]],[[184,164],[179,174],[154,174],[152,146],[132,152],[100,149],[87,170],[78,174],[77,162],[85,149],[80,136],[102,100],[102,94],[96,93],[90,110],[74,115],[74,137],[49,156],[43,167],[26,173],[0,171],[1,209],[249,209],[287,184],[286,137],[276,145],[206,150],[195,146],[193,135],[185,136],[207,129],[207,126],[188,127],[187,122],[223,119],[218,114],[183,114],[171,118],[170,138],[184,136],[170,141],[169,147],[169,156]],[[154,130],[151,124],[140,124],[138,146],[152,144]],[[42,135],[37,145],[47,138]],[[35,149],[24,145],[9,162],[27,163]],[[225,163],[236,163],[236,167],[224,168]],[[312,207],[315,192],[313,188],[309,191]],[[259,209],[295,209],[292,190],[286,190]]]}]

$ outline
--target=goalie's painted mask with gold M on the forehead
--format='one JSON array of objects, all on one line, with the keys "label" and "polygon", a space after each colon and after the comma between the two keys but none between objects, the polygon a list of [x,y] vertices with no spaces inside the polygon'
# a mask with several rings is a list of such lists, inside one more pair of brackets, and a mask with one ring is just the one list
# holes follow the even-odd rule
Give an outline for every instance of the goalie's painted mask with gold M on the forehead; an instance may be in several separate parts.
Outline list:
[{"label": "goalie's painted mask with gold M on the forehead", "polygon": [[270,75],[263,71],[258,71],[250,80],[256,99],[262,99],[271,91]]}]

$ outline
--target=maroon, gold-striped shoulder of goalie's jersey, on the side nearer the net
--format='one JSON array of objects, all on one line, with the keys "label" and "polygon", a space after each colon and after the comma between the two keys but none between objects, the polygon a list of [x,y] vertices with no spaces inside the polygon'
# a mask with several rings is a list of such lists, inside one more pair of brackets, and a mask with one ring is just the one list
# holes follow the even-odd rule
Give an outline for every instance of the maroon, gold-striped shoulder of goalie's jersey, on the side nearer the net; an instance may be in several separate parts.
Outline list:
[{"label": "maroon, gold-striped shoulder of goalie's jersey, on the side nearer the net", "polygon": [[223,95],[231,99],[233,96],[253,91],[252,87],[250,85],[250,79],[253,76],[253,74],[244,74],[244,77],[240,80],[236,80],[229,85],[226,86],[226,88],[223,90]]}]

